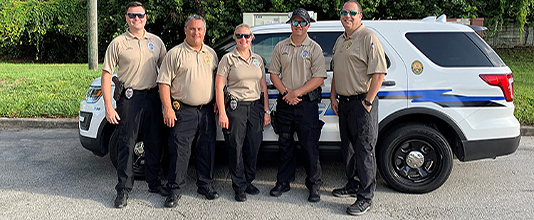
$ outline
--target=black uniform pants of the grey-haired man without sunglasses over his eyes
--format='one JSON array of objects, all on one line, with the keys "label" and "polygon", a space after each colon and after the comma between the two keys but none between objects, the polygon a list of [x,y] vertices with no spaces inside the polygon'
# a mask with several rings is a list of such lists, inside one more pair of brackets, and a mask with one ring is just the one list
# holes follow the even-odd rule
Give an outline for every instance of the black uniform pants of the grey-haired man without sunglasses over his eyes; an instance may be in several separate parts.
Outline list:
[{"label": "black uniform pants of the grey-haired man without sunglasses over his eyes", "polygon": [[214,105],[180,104],[180,109],[174,110],[177,121],[169,131],[167,189],[170,194],[182,193],[193,143],[195,143],[194,150],[197,155],[197,187],[211,187],[214,181],[216,138]]}]

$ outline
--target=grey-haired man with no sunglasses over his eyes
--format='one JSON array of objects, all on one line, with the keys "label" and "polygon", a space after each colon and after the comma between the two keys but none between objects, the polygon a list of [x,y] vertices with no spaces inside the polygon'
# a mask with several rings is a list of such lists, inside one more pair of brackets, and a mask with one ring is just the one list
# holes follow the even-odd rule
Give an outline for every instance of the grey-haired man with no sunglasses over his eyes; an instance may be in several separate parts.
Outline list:
[{"label": "grey-haired man with no sunglasses over his eyes", "polygon": [[216,125],[214,104],[215,51],[203,43],[206,21],[198,15],[185,21],[185,41],[164,58],[157,77],[164,123],[169,131],[169,197],[165,207],[176,207],[187,175],[191,145],[197,155],[197,192],[206,199],[219,194],[212,184]]}]

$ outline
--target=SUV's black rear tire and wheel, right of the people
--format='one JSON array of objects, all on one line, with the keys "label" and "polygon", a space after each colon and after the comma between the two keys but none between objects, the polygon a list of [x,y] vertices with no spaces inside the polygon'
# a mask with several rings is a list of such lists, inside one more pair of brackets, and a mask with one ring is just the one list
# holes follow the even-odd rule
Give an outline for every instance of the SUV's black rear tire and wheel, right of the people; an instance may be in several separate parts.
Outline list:
[{"label": "SUV's black rear tire and wheel, right of the people", "polygon": [[377,166],[393,189],[426,193],[441,187],[449,178],[453,165],[452,151],[436,128],[409,123],[382,133],[382,137],[384,139],[377,149]]}]

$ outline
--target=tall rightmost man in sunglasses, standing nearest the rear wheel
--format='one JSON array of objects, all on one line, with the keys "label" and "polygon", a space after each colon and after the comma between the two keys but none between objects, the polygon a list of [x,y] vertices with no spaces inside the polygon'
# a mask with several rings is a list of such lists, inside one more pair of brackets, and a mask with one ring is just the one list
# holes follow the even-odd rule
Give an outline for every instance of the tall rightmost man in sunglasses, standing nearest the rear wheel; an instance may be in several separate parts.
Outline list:
[{"label": "tall rightmost man in sunglasses, standing nearest the rear wheel", "polygon": [[[368,211],[375,194],[377,92],[387,72],[380,40],[361,21],[362,6],[357,1],[345,2],[341,11],[345,33],[337,38],[333,48],[334,76],[330,93],[332,110],[339,116],[348,180],[345,187],[334,189],[332,193],[336,197],[357,197],[347,208],[347,213],[352,215]],[[336,94],[339,94],[339,103]]]}]

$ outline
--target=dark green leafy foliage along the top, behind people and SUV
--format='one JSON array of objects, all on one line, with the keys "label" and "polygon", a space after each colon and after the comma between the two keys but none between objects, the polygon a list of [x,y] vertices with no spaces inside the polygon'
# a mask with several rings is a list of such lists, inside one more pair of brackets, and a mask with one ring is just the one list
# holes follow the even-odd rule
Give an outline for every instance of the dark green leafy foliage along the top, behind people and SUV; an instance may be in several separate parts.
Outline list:
[{"label": "dark green leafy foliage along the top, behind people and SUV", "polygon": [[[125,32],[125,5],[131,0],[98,0],[100,60],[110,41]],[[212,45],[234,31],[244,12],[288,12],[303,7],[319,20],[337,20],[344,0],[145,0],[147,31],[170,49],[184,41],[184,21],[197,13],[206,19]],[[531,25],[534,0],[360,0],[365,19],[485,18],[486,33],[503,23]],[[0,55],[4,60],[87,62],[86,0],[0,0]]]}]

